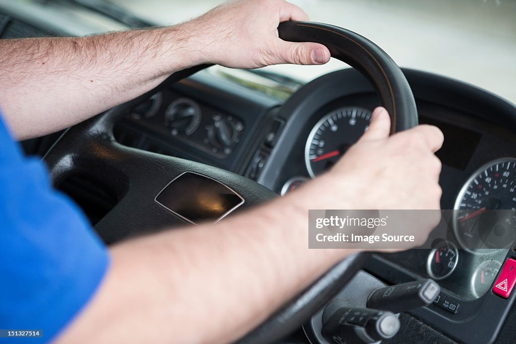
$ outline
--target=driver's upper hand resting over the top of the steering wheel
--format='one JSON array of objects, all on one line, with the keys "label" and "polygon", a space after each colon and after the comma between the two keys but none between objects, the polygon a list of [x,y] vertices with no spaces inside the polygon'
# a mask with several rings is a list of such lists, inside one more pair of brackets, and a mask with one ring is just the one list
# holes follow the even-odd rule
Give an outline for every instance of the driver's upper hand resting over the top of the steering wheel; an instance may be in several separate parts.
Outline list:
[{"label": "driver's upper hand resting over the top of the steering wheel", "polygon": [[199,35],[203,63],[231,68],[270,64],[322,64],[330,51],[318,43],[292,43],[278,38],[278,25],[306,21],[308,15],[284,0],[243,0],[219,6],[185,23]]}]

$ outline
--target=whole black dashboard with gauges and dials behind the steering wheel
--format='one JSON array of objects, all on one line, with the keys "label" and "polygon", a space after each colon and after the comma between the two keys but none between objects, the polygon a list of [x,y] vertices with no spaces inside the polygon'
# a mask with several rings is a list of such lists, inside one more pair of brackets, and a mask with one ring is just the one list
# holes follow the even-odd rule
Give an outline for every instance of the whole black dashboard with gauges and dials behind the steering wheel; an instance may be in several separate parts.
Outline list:
[{"label": "whole black dashboard with gauges and dials behind the steering wheel", "polygon": [[[445,136],[437,153],[443,162],[441,207],[462,209],[454,212],[454,235],[463,232],[461,220],[479,219],[486,209],[513,211],[515,108],[454,80],[405,73],[420,123],[438,126]],[[210,163],[285,194],[331,168],[367,129],[379,105],[372,87],[354,70],[322,76],[285,103],[201,72],[136,106],[115,133],[123,144]],[[473,330],[487,315],[504,319],[513,303],[513,297],[502,299],[491,291],[506,258],[515,255],[512,213],[508,219],[503,245],[483,240],[484,246],[464,250],[460,241],[441,242],[430,250],[377,254],[365,271],[389,284],[436,280],[440,302],[412,314],[451,338],[474,342],[464,329]],[[469,230],[481,236],[478,228]],[[460,331],[457,323],[462,323]],[[482,326],[486,341],[499,331],[499,322]]]}]

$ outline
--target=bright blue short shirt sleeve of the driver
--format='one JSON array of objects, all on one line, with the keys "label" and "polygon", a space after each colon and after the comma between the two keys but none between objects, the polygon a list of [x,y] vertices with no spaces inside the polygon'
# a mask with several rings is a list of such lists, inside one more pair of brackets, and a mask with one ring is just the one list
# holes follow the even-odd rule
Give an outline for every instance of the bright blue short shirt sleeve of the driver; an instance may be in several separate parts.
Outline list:
[{"label": "bright blue short shirt sleeve of the driver", "polygon": [[0,116],[0,329],[42,330],[30,342],[52,340],[92,297],[108,263],[85,216],[52,188],[39,159],[23,156]]}]

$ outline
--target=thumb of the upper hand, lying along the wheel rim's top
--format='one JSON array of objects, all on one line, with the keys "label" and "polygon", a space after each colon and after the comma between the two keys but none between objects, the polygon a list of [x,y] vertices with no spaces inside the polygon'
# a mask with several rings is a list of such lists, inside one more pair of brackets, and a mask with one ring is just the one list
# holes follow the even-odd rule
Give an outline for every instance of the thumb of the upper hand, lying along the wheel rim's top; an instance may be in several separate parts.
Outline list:
[{"label": "thumb of the upper hand, lying along the wheel rim's top", "polygon": [[279,63],[324,64],[330,60],[328,48],[319,43],[293,43],[281,40],[278,52]]}]

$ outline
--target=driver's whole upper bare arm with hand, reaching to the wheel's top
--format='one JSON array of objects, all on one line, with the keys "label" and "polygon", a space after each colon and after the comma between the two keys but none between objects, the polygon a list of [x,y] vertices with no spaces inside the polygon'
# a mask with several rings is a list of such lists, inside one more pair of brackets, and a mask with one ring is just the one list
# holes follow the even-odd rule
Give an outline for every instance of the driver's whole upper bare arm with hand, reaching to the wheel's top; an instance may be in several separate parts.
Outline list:
[{"label": "driver's whole upper bare arm with hand, reaching to the wheel's top", "polygon": [[285,42],[277,27],[308,20],[282,0],[230,2],[166,28],[80,38],[0,40],[0,108],[19,138],[55,132],[193,65],[322,64],[328,48]]}]

